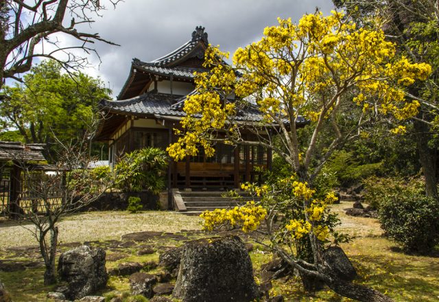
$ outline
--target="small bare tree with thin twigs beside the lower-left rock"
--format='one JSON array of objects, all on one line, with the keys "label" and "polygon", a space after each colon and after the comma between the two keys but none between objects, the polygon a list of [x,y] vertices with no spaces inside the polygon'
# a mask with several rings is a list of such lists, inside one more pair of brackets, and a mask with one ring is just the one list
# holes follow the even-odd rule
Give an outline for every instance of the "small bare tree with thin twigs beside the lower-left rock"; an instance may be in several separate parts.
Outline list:
[{"label": "small bare tree with thin twigs beside the lower-left rock", "polygon": [[114,185],[110,169],[88,169],[94,161],[88,150],[89,133],[74,144],[58,141],[59,160],[49,175],[20,159],[13,161],[22,171],[23,189],[18,200],[11,200],[14,212],[9,214],[23,222],[21,225],[38,241],[45,262],[45,284],[56,282],[60,218],[90,205]]}]

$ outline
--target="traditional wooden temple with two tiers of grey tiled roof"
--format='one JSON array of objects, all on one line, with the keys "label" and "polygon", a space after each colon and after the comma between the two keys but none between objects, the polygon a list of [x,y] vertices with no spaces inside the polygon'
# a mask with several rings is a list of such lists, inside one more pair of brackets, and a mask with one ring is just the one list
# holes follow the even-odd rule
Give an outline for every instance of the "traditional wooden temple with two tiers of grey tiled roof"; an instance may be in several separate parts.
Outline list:
[{"label": "traditional wooden temple with two tiers of grey tiled roof", "polygon": [[[117,100],[99,104],[106,119],[97,140],[108,143],[110,165],[126,152],[150,146],[166,149],[176,141],[172,129],[179,128],[185,116],[182,108],[187,95],[195,93],[193,73],[207,71],[202,65],[208,45],[204,27],[196,27],[191,39],[170,54],[152,62],[132,60],[130,75]],[[262,115],[254,108],[239,119],[261,121]],[[260,180],[261,170],[257,167],[271,167],[272,153],[262,147],[217,143],[215,148],[212,158],[200,152],[198,156],[187,156],[185,161],[171,161],[168,192],[237,188],[246,181]]]}]

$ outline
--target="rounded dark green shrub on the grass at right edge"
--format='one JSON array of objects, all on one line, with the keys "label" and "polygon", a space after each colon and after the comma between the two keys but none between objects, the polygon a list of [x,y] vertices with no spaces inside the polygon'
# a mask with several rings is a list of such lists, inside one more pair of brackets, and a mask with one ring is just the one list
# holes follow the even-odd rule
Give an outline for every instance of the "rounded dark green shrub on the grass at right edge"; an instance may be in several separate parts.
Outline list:
[{"label": "rounded dark green shrub on the grass at right edge", "polygon": [[405,253],[427,254],[439,243],[439,202],[434,198],[410,190],[385,196],[379,221]]}]

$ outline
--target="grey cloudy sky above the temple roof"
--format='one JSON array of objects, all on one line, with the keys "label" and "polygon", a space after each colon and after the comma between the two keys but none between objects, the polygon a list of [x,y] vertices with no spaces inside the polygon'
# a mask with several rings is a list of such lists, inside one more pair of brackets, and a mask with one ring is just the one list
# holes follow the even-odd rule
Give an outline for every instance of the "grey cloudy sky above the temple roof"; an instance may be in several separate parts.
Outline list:
[{"label": "grey cloudy sky above the temple roof", "polygon": [[118,95],[128,78],[132,58],[151,61],[176,49],[195,27],[206,27],[209,43],[233,51],[259,40],[263,29],[277,17],[298,21],[303,14],[324,14],[333,9],[331,0],[125,0],[97,18],[89,32],[121,46],[96,45],[102,64],[87,72],[99,75]]}]

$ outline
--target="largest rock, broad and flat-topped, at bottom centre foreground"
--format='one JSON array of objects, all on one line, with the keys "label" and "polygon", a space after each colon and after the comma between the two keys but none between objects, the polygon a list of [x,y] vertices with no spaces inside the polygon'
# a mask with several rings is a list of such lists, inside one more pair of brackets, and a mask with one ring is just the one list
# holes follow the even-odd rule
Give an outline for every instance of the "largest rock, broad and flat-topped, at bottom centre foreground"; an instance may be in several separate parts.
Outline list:
[{"label": "largest rock, broad and flat-topped, at bottom centre foreground", "polygon": [[185,302],[256,299],[258,290],[244,242],[237,236],[187,242],[173,296]]}]

